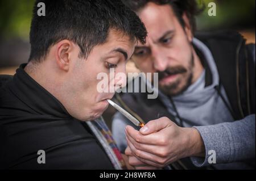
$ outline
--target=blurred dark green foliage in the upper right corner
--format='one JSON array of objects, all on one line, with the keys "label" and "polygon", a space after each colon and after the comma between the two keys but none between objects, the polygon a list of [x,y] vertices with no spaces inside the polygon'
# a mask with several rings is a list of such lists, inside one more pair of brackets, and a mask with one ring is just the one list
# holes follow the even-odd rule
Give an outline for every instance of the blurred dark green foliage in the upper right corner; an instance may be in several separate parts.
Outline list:
[{"label": "blurred dark green foliage in the upper right corner", "polygon": [[[208,4],[216,3],[216,16],[209,16]],[[199,30],[218,28],[253,28],[255,29],[255,0],[197,0],[200,7],[205,6],[203,13],[197,17]]]}]

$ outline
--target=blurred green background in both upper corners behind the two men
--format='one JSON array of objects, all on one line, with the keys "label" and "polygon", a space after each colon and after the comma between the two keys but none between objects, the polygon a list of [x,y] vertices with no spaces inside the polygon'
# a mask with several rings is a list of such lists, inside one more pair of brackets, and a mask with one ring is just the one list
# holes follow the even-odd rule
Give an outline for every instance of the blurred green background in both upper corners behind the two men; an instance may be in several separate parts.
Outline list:
[{"label": "blurred green background in both upper corners behind the two men", "polygon": [[[205,5],[197,17],[198,30],[233,29],[255,42],[255,0],[197,0]],[[217,16],[208,16],[208,3],[215,2]],[[0,0],[0,73],[3,68],[27,62],[33,0]]]}]

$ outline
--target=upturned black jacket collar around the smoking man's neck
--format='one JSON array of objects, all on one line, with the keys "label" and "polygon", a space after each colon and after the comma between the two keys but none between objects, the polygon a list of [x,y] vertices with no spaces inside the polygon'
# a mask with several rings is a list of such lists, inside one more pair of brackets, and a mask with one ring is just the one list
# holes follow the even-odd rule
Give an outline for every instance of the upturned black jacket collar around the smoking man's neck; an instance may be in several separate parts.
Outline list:
[{"label": "upturned black jacket collar around the smoking man's neck", "polygon": [[18,99],[29,107],[27,111],[40,115],[70,118],[71,115],[69,115],[59,100],[24,71],[26,65],[21,64],[16,70],[10,89]]}]

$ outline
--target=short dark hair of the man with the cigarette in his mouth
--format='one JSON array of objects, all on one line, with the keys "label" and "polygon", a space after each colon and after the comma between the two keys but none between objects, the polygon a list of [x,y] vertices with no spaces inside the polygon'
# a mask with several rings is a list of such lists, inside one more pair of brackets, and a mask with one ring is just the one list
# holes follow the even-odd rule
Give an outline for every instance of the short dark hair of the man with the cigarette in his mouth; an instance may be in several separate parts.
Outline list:
[{"label": "short dark hair of the man with the cigarette in his mouth", "polygon": [[[43,2],[46,16],[39,16]],[[146,41],[146,28],[138,16],[121,0],[37,0],[34,5],[28,61],[42,61],[49,47],[67,39],[77,44],[79,56],[87,57],[92,48],[106,42],[110,29],[131,40]]]}]

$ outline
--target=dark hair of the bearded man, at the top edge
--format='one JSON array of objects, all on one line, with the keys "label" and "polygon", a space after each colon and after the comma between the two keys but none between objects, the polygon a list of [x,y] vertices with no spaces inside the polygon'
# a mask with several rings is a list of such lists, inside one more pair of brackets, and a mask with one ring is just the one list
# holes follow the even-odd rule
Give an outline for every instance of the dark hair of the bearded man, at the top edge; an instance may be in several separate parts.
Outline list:
[{"label": "dark hair of the bearded man, at the top edge", "polygon": [[153,2],[156,5],[170,5],[172,10],[179,20],[181,26],[185,27],[184,19],[182,18],[183,13],[188,16],[189,24],[192,28],[192,33],[196,31],[196,20],[195,16],[199,15],[204,10],[204,4],[201,8],[197,6],[195,0],[122,0],[125,5],[130,7],[135,12],[142,10],[147,3]]}]

